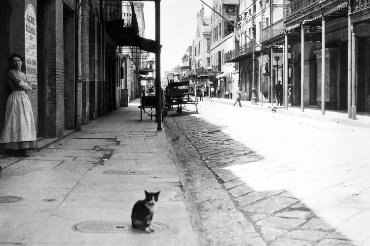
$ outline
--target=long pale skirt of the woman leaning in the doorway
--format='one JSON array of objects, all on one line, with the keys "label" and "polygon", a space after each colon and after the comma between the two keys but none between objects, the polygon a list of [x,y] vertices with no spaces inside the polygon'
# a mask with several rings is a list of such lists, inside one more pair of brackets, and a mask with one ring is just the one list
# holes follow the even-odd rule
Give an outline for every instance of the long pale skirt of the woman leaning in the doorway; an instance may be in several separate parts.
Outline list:
[{"label": "long pale skirt of the woman leaning in the doorway", "polygon": [[12,92],[6,101],[0,145],[12,150],[36,148],[34,114],[30,98],[24,91]]}]

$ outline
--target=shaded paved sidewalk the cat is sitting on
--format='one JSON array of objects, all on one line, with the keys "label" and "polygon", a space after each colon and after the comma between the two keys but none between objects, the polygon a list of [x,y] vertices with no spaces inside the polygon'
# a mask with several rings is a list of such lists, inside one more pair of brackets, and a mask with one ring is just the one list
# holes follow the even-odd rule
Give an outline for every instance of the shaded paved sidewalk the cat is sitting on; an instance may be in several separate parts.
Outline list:
[{"label": "shaded paved sidewalk the cat is sitting on", "polygon": [[[198,245],[171,148],[134,101],[30,157],[1,158],[0,245]],[[131,228],[144,190],[161,191],[153,233]]]}]

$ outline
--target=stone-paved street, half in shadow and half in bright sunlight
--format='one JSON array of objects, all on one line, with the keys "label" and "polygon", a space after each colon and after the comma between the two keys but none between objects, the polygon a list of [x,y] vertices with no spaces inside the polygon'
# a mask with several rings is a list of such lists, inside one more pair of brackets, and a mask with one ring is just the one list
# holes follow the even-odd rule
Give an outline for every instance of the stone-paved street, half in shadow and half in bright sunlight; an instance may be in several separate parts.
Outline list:
[{"label": "stone-paved street, half in shadow and half in bright sunlight", "polygon": [[368,129],[192,106],[164,126],[209,245],[369,244]]}]

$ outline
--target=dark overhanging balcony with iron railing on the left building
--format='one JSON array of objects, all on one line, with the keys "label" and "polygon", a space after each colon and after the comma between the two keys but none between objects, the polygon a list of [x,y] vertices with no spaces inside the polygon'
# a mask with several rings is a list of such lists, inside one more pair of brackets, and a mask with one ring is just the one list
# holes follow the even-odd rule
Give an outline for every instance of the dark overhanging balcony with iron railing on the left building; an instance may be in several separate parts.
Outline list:
[{"label": "dark overhanging balcony with iron railing on the left building", "polygon": [[132,2],[103,0],[106,30],[117,46],[137,46],[155,52],[155,42],[139,36],[139,26]]}]

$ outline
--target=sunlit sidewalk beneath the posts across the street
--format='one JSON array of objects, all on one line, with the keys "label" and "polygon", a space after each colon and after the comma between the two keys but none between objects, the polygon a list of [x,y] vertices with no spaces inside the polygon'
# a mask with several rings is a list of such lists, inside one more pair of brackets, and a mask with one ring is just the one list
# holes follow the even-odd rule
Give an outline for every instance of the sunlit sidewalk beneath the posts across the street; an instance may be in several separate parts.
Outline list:
[{"label": "sunlit sidewalk beneath the posts across the street", "polygon": [[[232,105],[235,102],[235,99],[228,98],[208,98],[205,97],[204,100],[209,100],[211,102],[218,102],[223,104]],[[370,127],[370,116],[369,114],[357,114],[357,120],[348,119],[347,111],[335,111],[335,110],[326,110],[325,115],[321,114],[321,108],[317,107],[305,107],[304,112],[301,112],[300,106],[288,106],[288,110],[285,110],[284,107],[276,107],[276,103],[271,106],[271,103],[260,102],[252,104],[251,101],[241,101],[243,107],[249,107],[256,110],[265,110],[269,112],[274,112],[276,114],[290,115],[294,117],[303,117],[312,120],[327,121],[327,122],[336,122],[340,124],[359,126],[359,127]],[[236,105],[237,107],[237,105]]]}]

